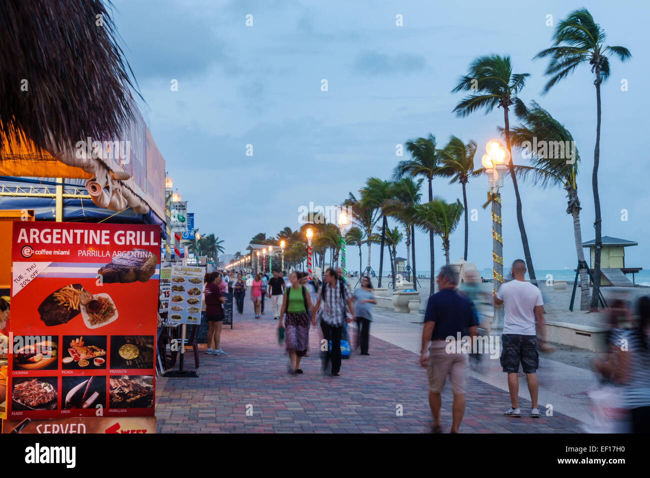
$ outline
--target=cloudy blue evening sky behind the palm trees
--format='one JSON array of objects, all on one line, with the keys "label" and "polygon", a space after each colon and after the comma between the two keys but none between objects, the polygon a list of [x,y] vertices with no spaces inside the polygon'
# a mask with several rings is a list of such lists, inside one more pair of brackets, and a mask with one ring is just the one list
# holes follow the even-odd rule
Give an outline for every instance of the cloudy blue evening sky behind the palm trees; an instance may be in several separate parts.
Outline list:
[{"label": "cloudy blue evening sky behind the palm trees", "polygon": [[[146,101],[140,108],[174,187],[195,213],[200,232],[223,239],[230,254],[244,252],[256,233],[297,229],[298,211],[309,202],[339,205],[349,192],[358,196],[370,176],[390,179],[396,163],[408,159],[408,152],[396,156],[396,145],[408,139],[432,133],[439,147],[450,135],[473,139],[478,168],[485,144],[498,137],[502,109],[458,118],[452,109],[463,94],[451,90],[471,60],[490,53],[510,55],[513,72],[530,73],[520,98],[538,101],[576,140],[582,240],[593,239],[593,75],[588,65],[580,66],[541,95],[547,61],[533,60],[551,46],[554,26],[547,23],[556,25],[586,7],[606,31],[607,43],[632,53],[625,63],[611,60],[610,78],[601,88],[603,235],[638,241],[626,249],[625,263],[650,267],[645,2],[114,0],[114,5],[125,56]],[[246,25],[248,15],[252,26]],[[396,25],[398,15],[402,26]],[[246,155],[247,145],[252,156]],[[528,164],[517,150],[513,161]],[[519,184],[536,269],[575,267],[565,191]],[[426,189],[422,193],[426,198]],[[501,193],[507,265],[523,257],[510,178]],[[486,194],[486,176],[471,179],[468,209],[476,209],[478,220],[469,222],[468,261],[479,269],[491,267],[492,258],[490,210],[482,209]],[[460,185],[445,179],[434,180],[434,195],[462,200]],[[451,237],[452,261],[463,254],[463,233],[461,222]],[[428,235],[416,233],[415,244],[422,271],[429,260]],[[373,246],[375,270],[378,252]],[[406,245],[397,252],[404,256]],[[357,259],[358,249],[348,250],[348,269],[358,268],[352,267]],[[439,239],[435,263],[444,263]]]}]

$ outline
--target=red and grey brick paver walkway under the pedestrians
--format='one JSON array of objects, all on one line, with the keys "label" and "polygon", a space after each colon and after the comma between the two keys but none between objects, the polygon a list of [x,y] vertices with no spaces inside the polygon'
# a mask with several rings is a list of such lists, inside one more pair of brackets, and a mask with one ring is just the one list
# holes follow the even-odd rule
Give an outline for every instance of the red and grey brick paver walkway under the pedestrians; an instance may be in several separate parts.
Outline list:
[{"label": "red and grey brick paver walkway under the pedestrians", "polygon": [[[201,353],[199,378],[158,380],[158,432],[430,431],[426,371],[413,352],[371,337],[370,356],[353,354],[343,360],[341,376],[331,377],[320,369],[317,326],[310,334],[310,356],[301,364],[304,374],[290,374],[289,358],[276,339],[278,323],[269,315],[270,300],[266,315],[255,320],[246,299],[244,315],[235,312],[235,328],[222,332],[227,356]],[[194,365],[191,355],[186,364]],[[580,422],[562,414],[506,418],[508,393],[474,378],[467,385],[461,432],[580,432]],[[447,384],[443,432],[451,425],[451,399]],[[528,410],[530,401],[520,399],[520,406]]]}]

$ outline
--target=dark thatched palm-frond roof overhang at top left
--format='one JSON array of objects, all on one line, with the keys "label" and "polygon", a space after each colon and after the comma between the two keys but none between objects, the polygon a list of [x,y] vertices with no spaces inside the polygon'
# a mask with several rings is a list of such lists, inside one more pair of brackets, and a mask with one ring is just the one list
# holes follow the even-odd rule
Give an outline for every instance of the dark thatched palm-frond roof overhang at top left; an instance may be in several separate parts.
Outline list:
[{"label": "dark thatched palm-frond roof overhang at top left", "polygon": [[0,2],[0,149],[11,140],[29,148],[31,140],[59,156],[86,137],[120,136],[133,118],[133,73],[107,6],[110,1]]}]

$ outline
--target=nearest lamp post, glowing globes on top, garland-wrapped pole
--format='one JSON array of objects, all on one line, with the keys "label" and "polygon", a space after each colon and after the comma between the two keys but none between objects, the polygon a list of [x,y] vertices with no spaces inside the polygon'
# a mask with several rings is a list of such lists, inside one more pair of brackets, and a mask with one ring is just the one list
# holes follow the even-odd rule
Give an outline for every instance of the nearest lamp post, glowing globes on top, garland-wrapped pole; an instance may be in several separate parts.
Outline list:
[{"label": "nearest lamp post, glowing globes on top, garland-wrapped pole", "polygon": [[[499,140],[487,142],[486,154],[481,163],[486,170],[489,191],[487,200],[492,203],[492,294],[499,292],[503,284],[503,236],[501,219],[501,194],[499,188],[503,187],[503,176],[508,170],[510,152],[504,148]],[[503,306],[494,306],[491,330],[503,328]]]}]

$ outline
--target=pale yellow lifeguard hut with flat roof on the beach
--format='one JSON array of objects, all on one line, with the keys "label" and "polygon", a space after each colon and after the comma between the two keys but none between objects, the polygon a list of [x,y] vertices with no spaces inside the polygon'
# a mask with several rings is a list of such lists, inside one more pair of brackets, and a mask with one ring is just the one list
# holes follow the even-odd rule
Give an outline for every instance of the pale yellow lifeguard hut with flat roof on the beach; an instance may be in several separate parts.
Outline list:
[{"label": "pale yellow lifeguard hut with flat roof on the beach", "polygon": [[[601,251],[601,285],[616,285],[619,287],[632,287],[634,285],[634,274],[641,271],[642,267],[627,267],[625,265],[625,248],[638,246],[635,241],[619,239],[604,235],[602,237],[603,249]],[[582,247],[589,248],[590,267],[593,274],[593,261],[596,253],[595,239],[582,243]],[[632,274],[632,282],[625,276]]]}]

